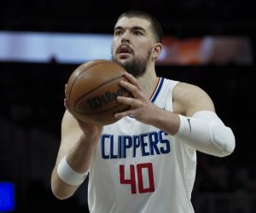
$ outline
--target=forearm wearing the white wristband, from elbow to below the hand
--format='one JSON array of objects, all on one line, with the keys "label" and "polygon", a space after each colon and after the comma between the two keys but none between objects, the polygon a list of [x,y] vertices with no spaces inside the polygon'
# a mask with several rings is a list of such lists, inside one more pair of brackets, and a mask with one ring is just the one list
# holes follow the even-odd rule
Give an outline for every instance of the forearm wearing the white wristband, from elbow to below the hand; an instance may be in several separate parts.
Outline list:
[{"label": "forearm wearing the white wristband, from elbow to below the hand", "polygon": [[[56,198],[67,199],[78,189],[82,182],[79,179],[84,178],[84,174],[90,168],[95,148],[96,143],[90,143],[80,137],[75,146],[55,165],[51,176],[51,187]],[[67,168],[63,169],[63,165],[61,165],[63,162]]]}]

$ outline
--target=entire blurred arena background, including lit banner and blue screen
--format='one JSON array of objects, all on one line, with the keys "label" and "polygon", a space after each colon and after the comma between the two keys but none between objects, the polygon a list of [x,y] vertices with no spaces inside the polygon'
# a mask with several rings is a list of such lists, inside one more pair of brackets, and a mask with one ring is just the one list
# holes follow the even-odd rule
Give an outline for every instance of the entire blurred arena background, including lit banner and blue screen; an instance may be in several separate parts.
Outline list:
[{"label": "entire blurred arena background, including lit banner and blue screen", "polygon": [[110,59],[113,25],[127,9],[153,14],[164,28],[157,74],[205,89],[236,135],[229,157],[198,153],[195,212],[256,212],[256,15],[248,0],[5,2],[0,7],[0,212],[87,212],[87,180],[67,200],[50,191],[64,85],[79,64]]}]

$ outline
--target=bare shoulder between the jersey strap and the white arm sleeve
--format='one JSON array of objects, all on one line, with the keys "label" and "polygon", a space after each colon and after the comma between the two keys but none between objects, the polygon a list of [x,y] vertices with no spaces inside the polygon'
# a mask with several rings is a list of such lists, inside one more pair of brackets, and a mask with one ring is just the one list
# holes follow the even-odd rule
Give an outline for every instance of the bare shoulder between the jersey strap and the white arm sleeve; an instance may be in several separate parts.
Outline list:
[{"label": "bare shoulder between the jersey strap and the white arm sleeve", "polygon": [[172,95],[174,112],[192,116],[199,110],[214,111],[211,97],[204,89],[194,84],[178,82]]}]

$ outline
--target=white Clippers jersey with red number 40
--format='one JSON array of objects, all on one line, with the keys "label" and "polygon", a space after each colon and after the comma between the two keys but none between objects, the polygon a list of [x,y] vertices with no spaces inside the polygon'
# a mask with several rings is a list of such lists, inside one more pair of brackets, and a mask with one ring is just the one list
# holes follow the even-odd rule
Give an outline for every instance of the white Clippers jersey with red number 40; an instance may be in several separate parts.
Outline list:
[{"label": "white Clippers jersey with red number 40", "polygon": [[[160,78],[151,101],[172,112],[177,81]],[[150,115],[148,115],[150,116]],[[154,126],[125,117],[104,126],[90,165],[93,213],[192,213],[196,153]]]}]

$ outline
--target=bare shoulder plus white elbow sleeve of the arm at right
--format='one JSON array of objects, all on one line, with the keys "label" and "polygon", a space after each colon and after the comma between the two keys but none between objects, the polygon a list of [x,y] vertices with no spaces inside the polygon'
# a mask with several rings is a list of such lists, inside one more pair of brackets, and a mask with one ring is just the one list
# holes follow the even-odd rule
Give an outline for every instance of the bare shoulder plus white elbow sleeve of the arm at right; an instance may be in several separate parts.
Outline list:
[{"label": "bare shoulder plus white elbow sleeve of the arm at right", "polygon": [[177,133],[190,147],[202,153],[224,157],[235,149],[232,130],[218,118],[207,93],[189,83],[178,83],[173,91],[174,112],[179,124]]}]

